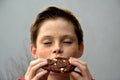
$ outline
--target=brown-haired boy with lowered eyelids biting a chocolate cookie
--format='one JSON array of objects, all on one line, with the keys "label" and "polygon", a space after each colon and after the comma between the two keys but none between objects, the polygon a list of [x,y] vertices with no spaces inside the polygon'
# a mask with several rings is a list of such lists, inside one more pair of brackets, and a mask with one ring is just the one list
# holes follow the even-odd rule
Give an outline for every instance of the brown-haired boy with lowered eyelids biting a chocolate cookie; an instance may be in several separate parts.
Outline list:
[{"label": "brown-haired boy with lowered eyelids biting a chocolate cookie", "polygon": [[[70,11],[48,7],[38,14],[30,31],[30,51],[35,60],[29,65],[25,80],[93,80],[86,62],[78,59],[84,50],[83,31]],[[69,58],[69,63],[79,71],[39,71],[48,64],[47,59],[55,57]]]}]

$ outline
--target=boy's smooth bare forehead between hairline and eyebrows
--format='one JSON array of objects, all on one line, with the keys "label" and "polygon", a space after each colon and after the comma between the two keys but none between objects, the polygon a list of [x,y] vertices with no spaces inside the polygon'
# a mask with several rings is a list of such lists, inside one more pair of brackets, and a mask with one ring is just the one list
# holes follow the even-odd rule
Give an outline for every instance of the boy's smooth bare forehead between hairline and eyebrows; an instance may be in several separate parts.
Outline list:
[{"label": "boy's smooth bare forehead between hairline and eyebrows", "polygon": [[71,34],[75,35],[74,25],[63,18],[50,19],[43,22],[39,34]]}]

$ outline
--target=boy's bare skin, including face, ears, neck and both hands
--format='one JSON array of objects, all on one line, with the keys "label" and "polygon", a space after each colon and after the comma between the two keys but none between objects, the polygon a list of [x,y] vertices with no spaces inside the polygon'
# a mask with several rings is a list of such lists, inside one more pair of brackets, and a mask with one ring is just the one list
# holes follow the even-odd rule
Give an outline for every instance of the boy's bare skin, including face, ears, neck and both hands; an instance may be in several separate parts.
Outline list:
[{"label": "boy's bare skin, including face, ears, neck and both hands", "polygon": [[[91,80],[92,76],[87,64],[77,58],[83,54],[84,44],[78,45],[74,25],[63,19],[46,20],[39,29],[36,47],[31,44],[30,51],[35,58],[31,61],[25,74],[25,80]],[[69,62],[79,69],[79,72],[54,73],[40,68],[47,64],[48,58],[70,57]],[[67,77],[66,77],[67,76]]]}]

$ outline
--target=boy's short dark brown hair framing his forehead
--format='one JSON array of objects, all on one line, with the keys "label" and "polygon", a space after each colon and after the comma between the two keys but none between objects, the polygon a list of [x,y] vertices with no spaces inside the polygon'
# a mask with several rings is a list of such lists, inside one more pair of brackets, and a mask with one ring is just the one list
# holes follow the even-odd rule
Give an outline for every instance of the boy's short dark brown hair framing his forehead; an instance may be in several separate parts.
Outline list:
[{"label": "boy's short dark brown hair framing his forehead", "polygon": [[39,29],[45,20],[56,19],[59,17],[70,21],[74,25],[74,30],[78,39],[78,44],[80,44],[83,41],[83,31],[77,18],[70,11],[53,6],[48,7],[46,10],[42,11],[37,15],[36,20],[32,24],[30,29],[31,43],[36,46],[36,39],[38,36]]}]

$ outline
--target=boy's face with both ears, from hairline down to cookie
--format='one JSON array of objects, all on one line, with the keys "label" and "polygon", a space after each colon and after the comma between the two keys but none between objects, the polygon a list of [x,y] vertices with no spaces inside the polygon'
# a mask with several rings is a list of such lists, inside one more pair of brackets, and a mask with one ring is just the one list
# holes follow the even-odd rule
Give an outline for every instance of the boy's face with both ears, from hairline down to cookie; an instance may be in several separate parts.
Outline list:
[{"label": "boy's face with both ears, from hairline down to cookie", "polygon": [[46,20],[38,33],[36,47],[31,45],[34,58],[80,57],[83,43],[78,45],[74,25],[63,19]]}]

